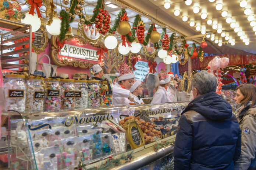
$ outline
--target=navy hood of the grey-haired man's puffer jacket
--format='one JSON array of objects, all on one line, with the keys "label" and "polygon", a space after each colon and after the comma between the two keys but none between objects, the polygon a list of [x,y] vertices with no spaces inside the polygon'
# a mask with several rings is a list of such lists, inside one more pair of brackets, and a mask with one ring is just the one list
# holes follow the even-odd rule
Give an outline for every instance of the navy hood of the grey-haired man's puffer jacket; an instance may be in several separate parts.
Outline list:
[{"label": "navy hood of the grey-haired man's puffer jacket", "polygon": [[224,120],[232,116],[230,104],[215,92],[196,97],[181,114],[188,110],[194,110],[212,120]]}]

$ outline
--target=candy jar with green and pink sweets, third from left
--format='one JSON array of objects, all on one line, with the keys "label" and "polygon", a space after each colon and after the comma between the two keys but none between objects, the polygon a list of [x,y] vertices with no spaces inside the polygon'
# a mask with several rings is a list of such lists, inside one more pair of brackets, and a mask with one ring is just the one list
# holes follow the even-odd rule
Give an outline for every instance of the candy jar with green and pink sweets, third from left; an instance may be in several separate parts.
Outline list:
[{"label": "candy jar with green and pink sweets, third from left", "polygon": [[45,78],[46,97],[45,108],[51,110],[60,109],[60,79]]}]

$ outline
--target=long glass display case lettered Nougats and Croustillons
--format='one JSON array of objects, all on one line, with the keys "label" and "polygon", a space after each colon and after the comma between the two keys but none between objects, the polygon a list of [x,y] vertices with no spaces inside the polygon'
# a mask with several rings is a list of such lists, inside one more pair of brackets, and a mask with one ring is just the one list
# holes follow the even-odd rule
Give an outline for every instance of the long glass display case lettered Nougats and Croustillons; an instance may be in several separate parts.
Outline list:
[{"label": "long glass display case lettered Nougats and Croustillons", "polygon": [[8,117],[7,143],[11,148],[9,168],[89,169],[103,163],[110,166],[108,162],[113,160],[119,162],[114,163],[115,169],[143,167],[172,152],[171,145],[161,145],[159,153],[154,146],[175,140],[179,114],[187,104],[4,112]]}]

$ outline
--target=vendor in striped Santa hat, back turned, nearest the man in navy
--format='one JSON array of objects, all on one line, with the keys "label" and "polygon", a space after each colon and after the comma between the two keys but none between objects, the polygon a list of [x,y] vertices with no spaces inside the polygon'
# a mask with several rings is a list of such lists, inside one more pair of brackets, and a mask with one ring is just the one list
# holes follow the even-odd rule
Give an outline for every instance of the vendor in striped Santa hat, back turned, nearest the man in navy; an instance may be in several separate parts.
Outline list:
[{"label": "vendor in striped Santa hat, back turned, nearest the man in navy", "polygon": [[173,102],[171,96],[168,94],[167,89],[170,85],[171,77],[167,73],[160,73],[158,75],[160,84],[156,88],[156,93],[153,96],[151,103],[167,103]]}]

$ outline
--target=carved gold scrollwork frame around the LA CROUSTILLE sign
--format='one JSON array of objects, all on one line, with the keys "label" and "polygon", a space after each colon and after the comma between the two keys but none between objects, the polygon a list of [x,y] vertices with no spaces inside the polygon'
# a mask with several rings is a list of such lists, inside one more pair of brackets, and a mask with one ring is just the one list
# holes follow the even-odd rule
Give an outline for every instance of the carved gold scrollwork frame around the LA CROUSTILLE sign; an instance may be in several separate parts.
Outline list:
[{"label": "carved gold scrollwork frame around the LA CROUSTILLE sign", "polygon": [[[88,41],[83,38],[80,37],[78,35],[74,35],[74,38],[79,39],[79,41],[81,43],[88,43]],[[66,36],[66,39],[68,39],[68,36]],[[91,68],[94,64],[90,63],[90,62],[84,62],[84,61],[75,61],[75,60],[71,60],[68,61],[67,59],[64,60],[60,60],[58,58],[58,45],[57,45],[57,40],[58,40],[58,36],[51,36],[51,51],[50,51],[50,56],[53,59],[54,64],[56,64],[57,66],[72,66],[72,67],[79,67],[82,69],[89,69]],[[97,44],[93,44],[94,47],[102,47],[105,48],[104,44],[102,42],[98,42]]]}]

